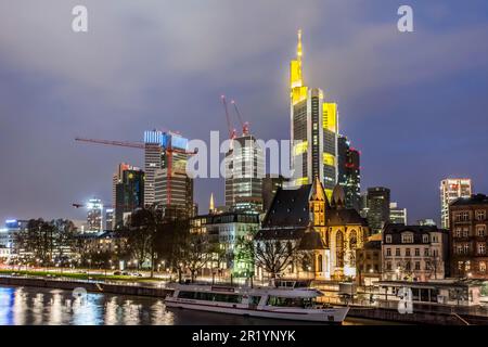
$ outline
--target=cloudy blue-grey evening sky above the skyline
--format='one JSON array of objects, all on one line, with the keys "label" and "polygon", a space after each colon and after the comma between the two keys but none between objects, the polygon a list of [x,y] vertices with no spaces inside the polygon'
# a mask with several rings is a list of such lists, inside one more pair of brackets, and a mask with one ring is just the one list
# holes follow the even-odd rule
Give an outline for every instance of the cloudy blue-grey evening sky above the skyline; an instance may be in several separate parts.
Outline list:
[{"label": "cloudy blue-grey evening sky above the skyline", "polygon": [[[397,30],[397,9],[414,33]],[[89,31],[72,30],[88,8]],[[361,150],[362,189],[385,185],[409,219],[439,215],[439,181],[471,177],[488,193],[488,2],[395,0],[2,0],[0,220],[85,218],[110,202],[119,162],[138,150],[75,137],[141,141],[226,131],[220,94],[261,139],[286,139],[288,62],[304,30],[306,83],[338,103]],[[223,182],[197,180],[206,211]]]}]

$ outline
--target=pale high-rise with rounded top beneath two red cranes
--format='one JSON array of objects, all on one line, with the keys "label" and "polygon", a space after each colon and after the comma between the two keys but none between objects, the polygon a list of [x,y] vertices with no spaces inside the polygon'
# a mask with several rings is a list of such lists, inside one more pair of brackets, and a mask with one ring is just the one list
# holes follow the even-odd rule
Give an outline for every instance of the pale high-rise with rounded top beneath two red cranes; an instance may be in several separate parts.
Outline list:
[{"label": "pale high-rise with rounded top beneath two red cranes", "polygon": [[265,158],[254,136],[243,133],[233,139],[226,153],[226,207],[233,210],[262,209]]}]

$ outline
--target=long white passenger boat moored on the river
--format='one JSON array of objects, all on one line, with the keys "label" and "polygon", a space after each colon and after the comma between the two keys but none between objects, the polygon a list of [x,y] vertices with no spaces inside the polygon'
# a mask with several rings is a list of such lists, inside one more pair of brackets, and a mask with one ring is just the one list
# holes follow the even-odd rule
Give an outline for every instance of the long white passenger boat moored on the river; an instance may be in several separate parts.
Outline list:
[{"label": "long white passenger boat moored on the river", "polygon": [[348,307],[318,304],[323,293],[286,281],[274,287],[232,287],[205,284],[174,284],[166,307],[200,311],[286,319],[296,321],[342,323]]}]

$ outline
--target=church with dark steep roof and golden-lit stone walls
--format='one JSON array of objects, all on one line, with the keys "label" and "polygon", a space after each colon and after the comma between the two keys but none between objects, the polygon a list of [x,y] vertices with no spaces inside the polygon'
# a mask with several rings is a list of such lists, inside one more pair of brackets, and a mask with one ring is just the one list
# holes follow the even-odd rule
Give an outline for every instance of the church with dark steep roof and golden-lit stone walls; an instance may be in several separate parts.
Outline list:
[{"label": "church with dark steep roof and golden-lit stone walls", "polygon": [[356,277],[356,250],[369,235],[367,221],[346,208],[343,188],[337,184],[329,200],[316,178],[312,184],[277,191],[255,241],[291,241],[297,254],[307,255],[308,261],[293,261],[283,278],[344,280]]}]

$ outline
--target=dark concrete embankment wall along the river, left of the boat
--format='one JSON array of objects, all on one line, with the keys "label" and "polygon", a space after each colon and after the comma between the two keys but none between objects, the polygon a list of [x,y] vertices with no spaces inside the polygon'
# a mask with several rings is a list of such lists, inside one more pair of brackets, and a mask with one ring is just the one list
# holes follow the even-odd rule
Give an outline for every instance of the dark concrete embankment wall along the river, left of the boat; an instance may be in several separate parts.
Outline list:
[{"label": "dark concrete embankment wall along the river, left of the boat", "polygon": [[118,295],[138,295],[138,296],[152,296],[152,297],[166,297],[172,291],[163,287],[149,287],[138,283],[138,285],[130,284],[114,284],[103,282],[85,282],[73,280],[51,280],[39,278],[14,278],[14,277],[0,277],[0,285],[12,286],[37,286],[43,288],[57,288],[65,291],[73,291],[77,287],[84,287],[88,292],[110,293]]}]

